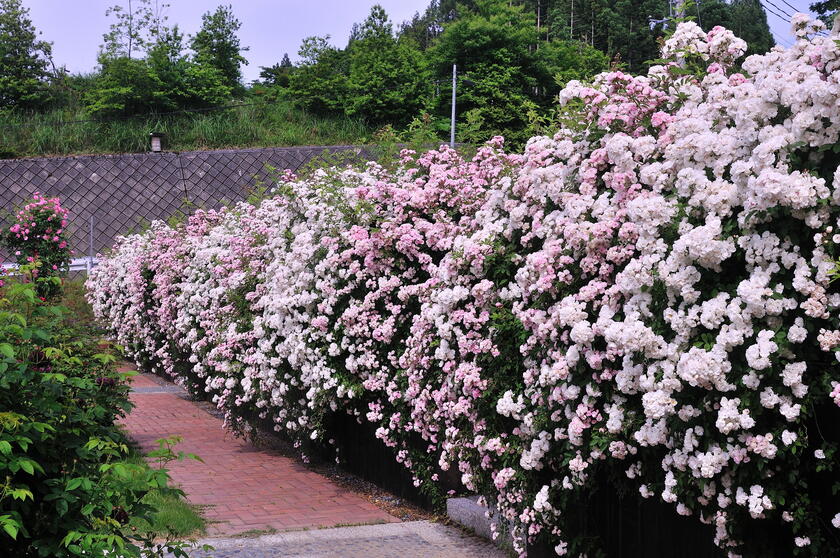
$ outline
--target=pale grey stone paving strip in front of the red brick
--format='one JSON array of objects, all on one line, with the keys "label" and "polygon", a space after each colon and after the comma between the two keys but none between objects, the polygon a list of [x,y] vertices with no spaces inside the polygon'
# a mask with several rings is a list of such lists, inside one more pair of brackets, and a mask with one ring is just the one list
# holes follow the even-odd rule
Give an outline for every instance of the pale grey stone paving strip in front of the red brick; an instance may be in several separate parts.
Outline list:
[{"label": "pale grey stone paving strip in front of the red brick", "polygon": [[250,539],[205,539],[191,558],[505,558],[491,542],[429,521],[295,531]]}]

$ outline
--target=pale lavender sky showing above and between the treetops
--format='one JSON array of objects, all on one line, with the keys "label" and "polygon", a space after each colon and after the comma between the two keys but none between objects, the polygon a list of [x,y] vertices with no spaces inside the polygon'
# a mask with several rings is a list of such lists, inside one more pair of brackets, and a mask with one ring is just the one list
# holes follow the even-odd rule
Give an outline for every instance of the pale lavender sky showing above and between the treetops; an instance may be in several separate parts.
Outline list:
[{"label": "pale lavender sky showing above and between the treetops", "polygon": [[[71,72],[89,72],[96,66],[102,34],[108,29],[105,10],[117,1],[23,0],[23,4],[30,9],[42,37],[53,42],[56,63],[67,66]],[[762,0],[778,14],[767,15],[777,42],[789,45],[793,41],[790,25],[783,18],[796,11],[791,6],[804,11],[810,1]],[[168,23],[177,23],[183,32],[194,33],[201,26],[201,14],[221,3],[233,4],[234,14],[242,22],[239,36],[242,44],[250,47],[245,54],[250,64],[243,73],[250,82],[258,77],[260,66],[279,62],[283,53],[288,52],[296,60],[304,37],[330,35],[334,44],[343,47],[350,26],[362,21],[374,4],[381,4],[398,24],[423,11],[428,0],[169,0]]]}]

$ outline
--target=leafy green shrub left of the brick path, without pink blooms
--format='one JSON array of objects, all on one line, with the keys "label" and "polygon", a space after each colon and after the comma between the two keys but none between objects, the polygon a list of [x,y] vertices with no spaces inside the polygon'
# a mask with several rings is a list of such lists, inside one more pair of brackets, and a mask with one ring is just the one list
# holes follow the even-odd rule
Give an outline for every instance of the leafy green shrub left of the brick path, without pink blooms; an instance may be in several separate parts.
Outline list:
[{"label": "leafy green shrub left of the brick path, without pink blooms", "polygon": [[[130,408],[124,378],[113,357],[63,331],[62,319],[59,307],[38,300],[34,283],[0,288],[0,554],[178,551],[129,529],[156,511],[142,502],[147,493],[179,491],[167,488],[165,468],[126,462],[114,423]],[[165,446],[157,457],[176,456]]]}]

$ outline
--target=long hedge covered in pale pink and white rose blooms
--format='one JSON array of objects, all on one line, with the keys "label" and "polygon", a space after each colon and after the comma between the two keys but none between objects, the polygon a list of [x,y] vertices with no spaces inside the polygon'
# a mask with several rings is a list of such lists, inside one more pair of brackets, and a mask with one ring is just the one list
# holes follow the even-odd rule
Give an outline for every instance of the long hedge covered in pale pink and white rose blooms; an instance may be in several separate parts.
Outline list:
[{"label": "long hedge covered in pale pink and white rose blooms", "polygon": [[743,41],[682,23],[647,76],[570,83],[522,155],[289,175],[122,239],[90,299],[237,430],[305,443],[352,413],[418,486],[457,469],[559,555],[591,546],[566,526],[603,471],[732,556],[758,524],[828,555],[840,48],[820,26],[797,15],[793,47],[736,69]]}]

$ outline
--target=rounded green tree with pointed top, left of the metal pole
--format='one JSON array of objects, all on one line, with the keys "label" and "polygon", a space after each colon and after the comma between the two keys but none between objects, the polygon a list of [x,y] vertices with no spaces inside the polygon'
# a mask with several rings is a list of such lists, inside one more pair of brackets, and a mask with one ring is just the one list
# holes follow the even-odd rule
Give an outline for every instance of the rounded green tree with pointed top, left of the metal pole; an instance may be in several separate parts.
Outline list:
[{"label": "rounded green tree with pointed top, left of the metal pole", "polygon": [[419,113],[430,87],[426,59],[412,40],[394,37],[381,6],[357,28],[349,51],[349,116],[404,125]]}]

